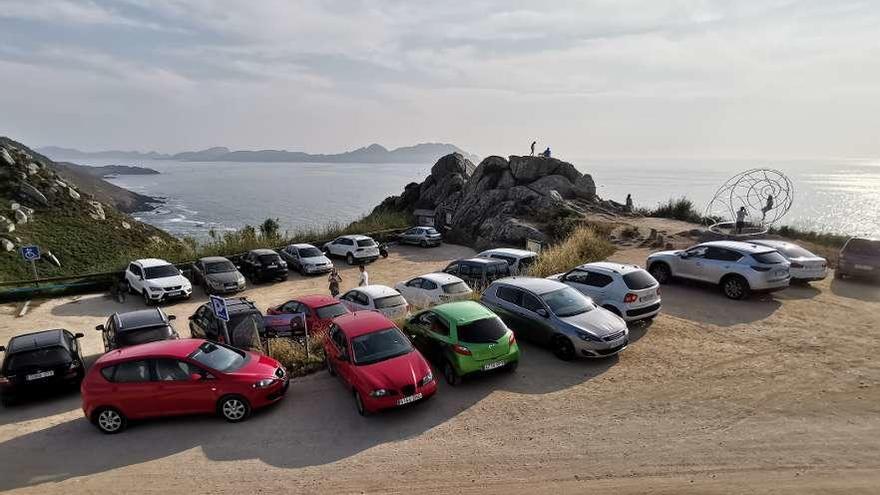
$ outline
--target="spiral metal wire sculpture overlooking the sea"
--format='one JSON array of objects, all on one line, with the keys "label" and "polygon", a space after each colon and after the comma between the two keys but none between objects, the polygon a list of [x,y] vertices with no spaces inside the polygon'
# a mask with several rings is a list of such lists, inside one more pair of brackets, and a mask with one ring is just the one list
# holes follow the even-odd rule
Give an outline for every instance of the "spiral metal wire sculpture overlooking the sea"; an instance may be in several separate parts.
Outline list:
[{"label": "spiral metal wire sculpture overlooking the sea", "polygon": [[[734,236],[764,234],[791,209],[794,186],[782,172],[755,168],[731,177],[706,207],[709,230]],[[737,212],[745,208],[745,225],[736,228]]]}]

